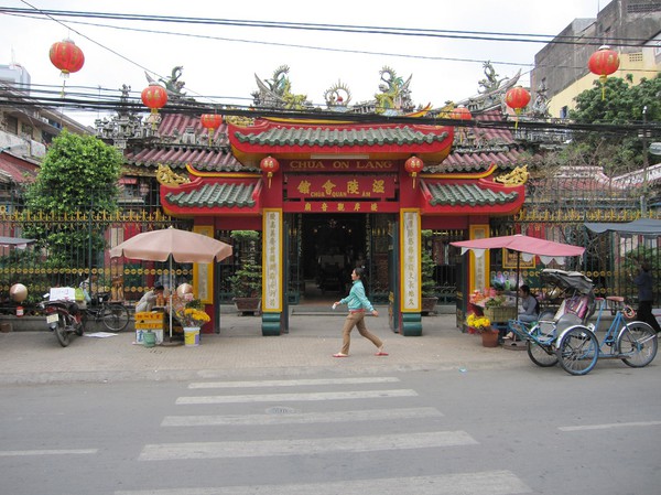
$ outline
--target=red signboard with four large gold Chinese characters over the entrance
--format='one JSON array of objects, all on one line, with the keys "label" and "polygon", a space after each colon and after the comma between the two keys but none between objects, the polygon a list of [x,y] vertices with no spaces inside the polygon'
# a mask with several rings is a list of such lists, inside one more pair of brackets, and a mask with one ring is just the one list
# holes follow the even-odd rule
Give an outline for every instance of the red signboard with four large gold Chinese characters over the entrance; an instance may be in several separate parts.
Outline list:
[{"label": "red signboard with four large gold Chinese characters over the entrance", "polygon": [[295,200],[389,200],[394,175],[289,175],[286,195]]}]

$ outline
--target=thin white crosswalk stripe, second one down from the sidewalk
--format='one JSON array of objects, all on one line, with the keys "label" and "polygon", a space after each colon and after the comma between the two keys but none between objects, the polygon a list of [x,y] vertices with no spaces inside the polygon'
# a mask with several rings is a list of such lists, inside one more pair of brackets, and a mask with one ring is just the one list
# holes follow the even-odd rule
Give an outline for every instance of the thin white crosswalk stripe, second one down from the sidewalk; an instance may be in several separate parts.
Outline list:
[{"label": "thin white crosswalk stripe, second one down from the sidewalk", "polygon": [[355,390],[328,391],[310,394],[256,394],[237,396],[194,396],[180,397],[177,405],[182,403],[237,403],[237,402],[286,402],[312,400],[342,400],[342,399],[378,399],[386,397],[413,397],[418,392],[412,389],[393,390]]}]

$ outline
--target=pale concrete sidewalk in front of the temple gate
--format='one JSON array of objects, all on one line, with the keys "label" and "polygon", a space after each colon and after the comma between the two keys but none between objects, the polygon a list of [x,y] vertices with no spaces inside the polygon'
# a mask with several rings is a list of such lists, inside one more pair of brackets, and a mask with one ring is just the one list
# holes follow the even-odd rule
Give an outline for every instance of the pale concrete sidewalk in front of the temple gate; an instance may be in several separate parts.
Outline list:
[{"label": "pale concrete sidewalk in front of the temple gate", "polygon": [[[375,374],[388,370],[502,368],[529,366],[524,352],[481,346],[479,335],[460,333],[454,314],[423,318],[423,335],[403,337],[381,316],[367,318],[367,326],[384,341],[386,357],[375,356],[373,345],[351,333],[347,358],[334,358],[342,344],[345,313],[299,314],[293,310],[289,333],[261,335],[261,318],[223,313],[220,334],[201,336],[201,345],[134,344],[129,329],[116,336],[73,337],[61,347],[48,331],[0,333],[0,383],[46,384],[199,379],[223,376],[297,376],[340,372]],[[88,329],[88,333],[104,331]]]}]

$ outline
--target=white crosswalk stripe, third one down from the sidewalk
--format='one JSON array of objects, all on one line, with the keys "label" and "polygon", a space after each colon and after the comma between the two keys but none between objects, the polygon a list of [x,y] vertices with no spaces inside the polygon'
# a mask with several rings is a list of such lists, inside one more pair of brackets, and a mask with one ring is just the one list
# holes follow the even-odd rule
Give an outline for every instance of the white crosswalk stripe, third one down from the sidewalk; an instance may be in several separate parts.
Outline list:
[{"label": "white crosswalk stripe, third one down from the sidewalk", "polygon": [[378,421],[390,419],[420,419],[443,416],[436,408],[367,409],[333,412],[288,412],[283,415],[215,415],[166,416],[162,427],[263,426],[333,423],[347,421]]}]

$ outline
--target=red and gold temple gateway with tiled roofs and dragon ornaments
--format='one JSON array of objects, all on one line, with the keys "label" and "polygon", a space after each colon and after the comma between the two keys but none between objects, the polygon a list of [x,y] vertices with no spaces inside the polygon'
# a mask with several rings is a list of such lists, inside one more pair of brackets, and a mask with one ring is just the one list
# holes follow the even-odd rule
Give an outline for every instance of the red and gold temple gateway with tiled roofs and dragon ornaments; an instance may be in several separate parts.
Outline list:
[{"label": "red and gold temple gateway with tiled roofs and dragon ornaments", "polygon": [[[448,248],[449,240],[488,236],[491,218],[514,215],[524,202],[529,154],[508,127],[436,125],[434,117],[447,119],[455,105],[415,108],[411,78],[388,67],[381,79],[395,83],[372,101],[353,106],[348,89],[336,85],[326,92],[325,118],[259,116],[258,108],[310,110],[283,78],[282,67],[268,83],[258,78],[252,115],[225,115],[212,130],[201,115],[166,108],[149,139],[116,137],[112,122],[100,128],[109,141],[123,141],[136,175],[155,175],[169,215],[217,238],[261,233],[262,334],[284,331],[288,305],[305,299],[306,283],[344,295],[353,267],[367,266],[370,298],[388,303],[391,329],[421,335],[425,230],[434,233],[437,279],[452,278],[459,292],[488,286],[486,273],[458,267]],[[502,95],[514,82],[472,98],[473,119],[501,121]],[[205,270],[193,283],[213,313],[223,281]]]}]

